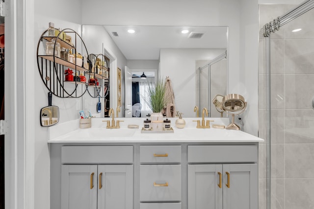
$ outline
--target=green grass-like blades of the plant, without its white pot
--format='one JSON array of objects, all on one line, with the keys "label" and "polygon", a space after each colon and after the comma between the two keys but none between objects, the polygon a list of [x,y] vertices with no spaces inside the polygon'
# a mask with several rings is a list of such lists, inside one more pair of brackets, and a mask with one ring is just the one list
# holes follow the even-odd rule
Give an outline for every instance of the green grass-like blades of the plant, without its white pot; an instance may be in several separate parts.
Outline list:
[{"label": "green grass-like blades of the plant, without its white pot", "polygon": [[148,83],[148,92],[143,96],[153,113],[160,113],[166,106],[167,95],[166,85],[163,80],[158,80],[157,83]]}]

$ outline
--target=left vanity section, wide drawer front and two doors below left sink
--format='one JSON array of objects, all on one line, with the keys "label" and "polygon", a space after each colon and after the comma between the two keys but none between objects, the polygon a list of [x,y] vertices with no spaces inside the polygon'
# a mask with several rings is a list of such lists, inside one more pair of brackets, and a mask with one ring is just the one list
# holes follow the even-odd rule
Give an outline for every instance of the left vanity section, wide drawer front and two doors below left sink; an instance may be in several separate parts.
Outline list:
[{"label": "left vanity section, wide drawer front and two doors below left sink", "polygon": [[133,164],[118,164],[133,162],[132,146],[64,146],[61,156],[61,209],[133,209]]}]

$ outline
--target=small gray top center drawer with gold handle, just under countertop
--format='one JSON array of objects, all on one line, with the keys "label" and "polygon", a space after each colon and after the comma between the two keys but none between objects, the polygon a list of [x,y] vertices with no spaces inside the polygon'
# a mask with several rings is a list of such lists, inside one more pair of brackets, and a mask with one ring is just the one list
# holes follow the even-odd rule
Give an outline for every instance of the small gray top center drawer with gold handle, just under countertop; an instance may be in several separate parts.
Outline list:
[{"label": "small gray top center drawer with gold handle, just under countertop", "polygon": [[140,146],[140,163],[181,163],[181,145]]}]

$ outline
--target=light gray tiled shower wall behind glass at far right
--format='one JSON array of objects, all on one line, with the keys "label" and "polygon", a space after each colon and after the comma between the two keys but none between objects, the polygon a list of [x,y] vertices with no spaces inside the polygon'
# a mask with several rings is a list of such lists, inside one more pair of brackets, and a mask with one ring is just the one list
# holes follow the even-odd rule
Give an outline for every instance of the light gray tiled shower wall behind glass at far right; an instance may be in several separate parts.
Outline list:
[{"label": "light gray tiled shower wall behind glass at far right", "polygon": [[[260,5],[260,28],[296,5]],[[270,142],[271,209],[314,208],[314,10],[270,38],[270,141],[260,145],[260,209],[266,209]],[[302,28],[299,32],[293,29]],[[260,34],[259,137],[266,139],[264,39]]]}]

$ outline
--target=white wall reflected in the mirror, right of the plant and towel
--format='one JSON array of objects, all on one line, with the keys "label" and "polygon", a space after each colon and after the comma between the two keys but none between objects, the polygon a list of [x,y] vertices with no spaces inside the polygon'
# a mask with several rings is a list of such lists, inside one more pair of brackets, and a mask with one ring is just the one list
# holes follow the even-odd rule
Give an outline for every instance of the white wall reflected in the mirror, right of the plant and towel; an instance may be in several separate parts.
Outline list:
[{"label": "white wall reflected in the mirror, right of the plant and towel", "polygon": [[160,78],[169,76],[175,94],[176,111],[184,117],[194,117],[196,105],[195,61],[213,60],[226,49],[174,49],[160,50]]}]

